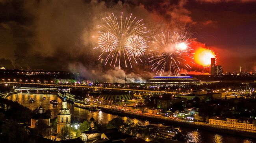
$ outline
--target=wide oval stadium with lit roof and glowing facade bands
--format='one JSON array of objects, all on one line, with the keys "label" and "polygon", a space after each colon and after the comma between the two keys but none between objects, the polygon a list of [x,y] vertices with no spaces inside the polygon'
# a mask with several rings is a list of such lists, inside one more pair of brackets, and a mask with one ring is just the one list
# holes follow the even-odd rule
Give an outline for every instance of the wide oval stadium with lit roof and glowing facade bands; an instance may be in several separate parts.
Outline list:
[{"label": "wide oval stadium with lit roof and glowing facade bands", "polygon": [[148,87],[189,87],[200,85],[200,80],[191,76],[155,76],[146,80]]}]

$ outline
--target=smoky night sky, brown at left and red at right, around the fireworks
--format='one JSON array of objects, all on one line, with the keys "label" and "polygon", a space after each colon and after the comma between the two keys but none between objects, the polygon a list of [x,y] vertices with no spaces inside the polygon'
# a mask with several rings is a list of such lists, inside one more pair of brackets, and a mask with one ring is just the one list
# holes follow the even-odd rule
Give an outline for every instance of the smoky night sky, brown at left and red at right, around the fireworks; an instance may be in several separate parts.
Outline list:
[{"label": "smoky night sky, brown at left and red at right, around the fireworks", "polygon": [[169,1],[0,0],[0,67],[101,69],[96,26],[123,12],[142,18],[151,34],[187,33],[215,51],[223,72],[256,72],[255,0]]}]

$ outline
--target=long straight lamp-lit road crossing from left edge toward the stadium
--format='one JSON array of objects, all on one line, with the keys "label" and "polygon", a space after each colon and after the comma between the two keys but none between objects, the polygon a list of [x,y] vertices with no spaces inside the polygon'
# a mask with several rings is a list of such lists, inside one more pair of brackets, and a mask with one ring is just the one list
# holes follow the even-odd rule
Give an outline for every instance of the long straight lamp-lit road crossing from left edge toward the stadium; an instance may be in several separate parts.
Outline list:
[{"label": "long straight lamp-lit road crossing from left edge toward the stadium", "polygon": [[152,92],[152,93],[157,93],[157,94],[163,94],[163,93],[175,94],[176,93],[176,92],[168,92],[168,91],[150,91],[150,90],[121,89],[121,88],[109,88],[109,87],[89,87],[89,86],[81,86],[81,85],[63,85],[63,84],[48,84],[48,83],[26,83],[26,82],[5,82],[5,81],[0,81],[0,83],[29,84],[29,85],[43,85],[43,86],[61,86],[61,87],[80,87],[80,88],[91,88],[91,89],[108,89],[108,90],[116,90],[116,91]]}]

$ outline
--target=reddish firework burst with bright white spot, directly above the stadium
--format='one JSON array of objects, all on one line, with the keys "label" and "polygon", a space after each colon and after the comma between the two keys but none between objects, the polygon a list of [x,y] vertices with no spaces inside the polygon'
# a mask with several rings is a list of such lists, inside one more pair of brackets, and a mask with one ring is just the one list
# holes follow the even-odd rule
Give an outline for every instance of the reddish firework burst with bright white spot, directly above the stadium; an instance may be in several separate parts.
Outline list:
[{"label": "reddish firework burst with bright white spot, directly above the stadium", "polygon": [[175,32],[173,34],[161,33],[155,36],[149,50],[151,57],[148,58],[152,63],[151,69],[157,71],[156,74],[160,72],[160,75],[168,71],[170,76],[172,72],[179,75],[182,66],[191,68],[188,62],[191,62],[189,59],[193,59],[193,57],[190,56],[191,48],[188,44],[189,41],[185,36]]}]

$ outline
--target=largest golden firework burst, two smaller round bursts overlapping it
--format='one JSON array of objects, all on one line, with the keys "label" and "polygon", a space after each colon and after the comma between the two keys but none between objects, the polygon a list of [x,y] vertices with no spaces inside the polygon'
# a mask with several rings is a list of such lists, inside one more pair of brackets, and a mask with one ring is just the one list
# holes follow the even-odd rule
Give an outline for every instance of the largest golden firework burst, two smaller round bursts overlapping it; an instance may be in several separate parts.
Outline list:
[{"label": "largest golden firework burst, two smaller round bursts overlapping it", "polygon": [[147,49],[147,38],[145,36],[148,31],[142,20],[130,16],[116,17],[112,16],[103,18],[106,22],[104,25],[98,25],[100,29],[98,46],[94,49],[100,48],[102,54],[99,59],[105,58],[105,65],[109,63],[113,67],[120,66],[132,67],[132,61],[137,63],[137,59],[141,60]]}]

